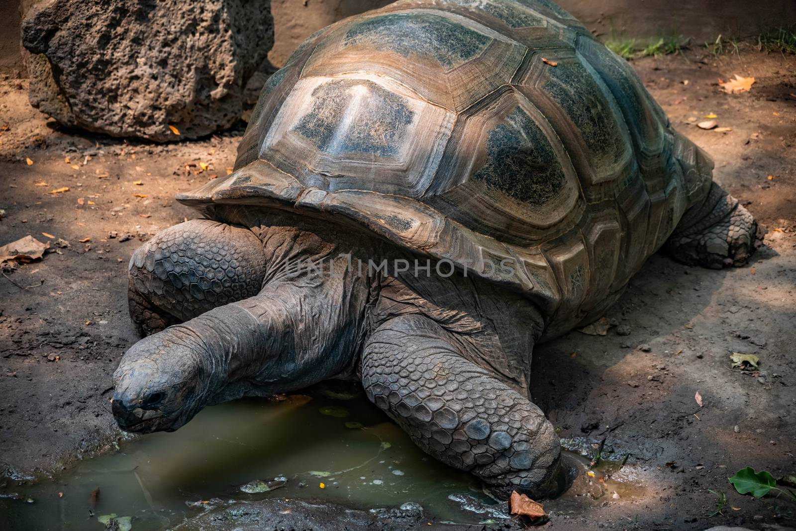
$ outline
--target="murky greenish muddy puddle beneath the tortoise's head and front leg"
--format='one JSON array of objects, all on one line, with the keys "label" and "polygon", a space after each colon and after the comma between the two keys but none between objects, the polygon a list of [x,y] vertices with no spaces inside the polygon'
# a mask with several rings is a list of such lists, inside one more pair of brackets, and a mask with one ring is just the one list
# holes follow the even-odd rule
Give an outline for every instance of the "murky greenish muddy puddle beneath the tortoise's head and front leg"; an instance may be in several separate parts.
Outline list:
[{"label": "murky greenish muddy puddle beneath the tortoise's head and front leg", "polygon": [[[579,474],[567,493],[545,504],[555,513],[643,491],[632,467],[619,471],[618,463],[603,463],[591,478],[587,459],[568,453],[567,460]],[[427,517],[451,523],[494,517],[456,501],[455,494],[468,494],[494,503],[472,476],[421,452],[365,397],[340,400],[328,393],[206,408],[177,432],[121,443],[118,451],[47,481],[9,483],[0,489],[0,527],[9,531],[100,531],[111,514],[130,517],[135,531],[156,531],[214,503],[272,497],[355,508],[417,502]]]}]

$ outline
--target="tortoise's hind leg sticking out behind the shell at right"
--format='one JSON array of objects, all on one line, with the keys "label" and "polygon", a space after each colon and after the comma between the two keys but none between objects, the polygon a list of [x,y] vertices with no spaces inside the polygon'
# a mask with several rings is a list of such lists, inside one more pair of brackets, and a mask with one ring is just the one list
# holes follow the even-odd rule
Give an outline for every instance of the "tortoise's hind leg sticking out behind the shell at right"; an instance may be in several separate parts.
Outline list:
[{"label": "tortoise's hind leg sticking out behind the shell at right", "polygon": [[665,250],[690,266],[743,266],[756,250],[756,234],[755,218],[713,183],[705,200],[685,212]]}]

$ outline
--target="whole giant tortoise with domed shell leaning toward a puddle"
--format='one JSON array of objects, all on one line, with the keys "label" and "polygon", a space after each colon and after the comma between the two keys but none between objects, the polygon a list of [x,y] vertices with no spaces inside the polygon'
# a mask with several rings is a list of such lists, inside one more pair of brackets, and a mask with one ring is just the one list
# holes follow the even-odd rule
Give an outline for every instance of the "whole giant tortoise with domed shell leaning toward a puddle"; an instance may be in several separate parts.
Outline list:
[{"label": "whole giant tortoise with domed shell leaning toward a puddle", "polygon": [[402,0],[309,37],[268,79],[234,172],[130,262],[131,432],[361,379],[496,497],[560,486],[531,352],[597,319],[650,254],[755,248],[633,68],[549,0]]}]

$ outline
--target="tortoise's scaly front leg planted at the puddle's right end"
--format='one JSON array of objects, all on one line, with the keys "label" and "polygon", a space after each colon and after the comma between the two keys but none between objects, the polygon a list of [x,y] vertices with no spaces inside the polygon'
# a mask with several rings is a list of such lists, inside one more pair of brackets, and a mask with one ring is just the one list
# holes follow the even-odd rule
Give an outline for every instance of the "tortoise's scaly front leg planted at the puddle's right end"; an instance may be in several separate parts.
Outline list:
[{"label": "tortoise's scaly front leg planted at the puddle's right end", "polygon": [[486,483],[490,494],[556,494],[560,444],[527,397],[462,357],[455,339],[418,315],[388,320],[362,359],[368,397],[424,452]]}]

